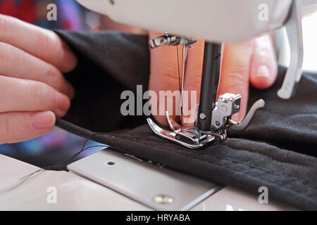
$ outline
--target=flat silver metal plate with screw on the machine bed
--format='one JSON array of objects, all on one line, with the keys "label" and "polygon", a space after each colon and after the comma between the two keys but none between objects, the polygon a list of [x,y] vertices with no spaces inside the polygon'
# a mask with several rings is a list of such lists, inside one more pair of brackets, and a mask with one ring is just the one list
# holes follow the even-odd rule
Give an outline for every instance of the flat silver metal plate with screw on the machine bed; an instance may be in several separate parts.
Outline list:
[{"label": "flat silver metal plate with screw on the machine bed", "polygon": [[68,169],[154,210],[189,210],[221,188],[114,150],[102,150]]}]

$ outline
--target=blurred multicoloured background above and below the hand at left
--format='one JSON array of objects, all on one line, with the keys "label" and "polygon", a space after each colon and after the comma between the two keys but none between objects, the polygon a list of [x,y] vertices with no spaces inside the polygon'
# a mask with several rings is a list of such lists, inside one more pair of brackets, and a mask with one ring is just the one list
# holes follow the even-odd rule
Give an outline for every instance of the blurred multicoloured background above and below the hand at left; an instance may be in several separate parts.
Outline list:
[{"label": "blurred multicoloured background above and below the hand at left", "polygon": [[[57,6],[57,21],[46,19],[48,4]],[[12,15],[28,23],[48,29],[99,31],[109,29],[108,18],[87,11],[75,0],[0,0],[0,13]],[[8,155],[38,167],[55,165],[77,153],[85,143],[85,139],[70,134],[62,129],[54,128],[49,134],[23,143],[0,145],[0,154]],[[89,141],[88,146],[100,145]],[[79,157],[95,153],[103,147],[90,148]],[[74,160],[74,161],[75,161]]]}]

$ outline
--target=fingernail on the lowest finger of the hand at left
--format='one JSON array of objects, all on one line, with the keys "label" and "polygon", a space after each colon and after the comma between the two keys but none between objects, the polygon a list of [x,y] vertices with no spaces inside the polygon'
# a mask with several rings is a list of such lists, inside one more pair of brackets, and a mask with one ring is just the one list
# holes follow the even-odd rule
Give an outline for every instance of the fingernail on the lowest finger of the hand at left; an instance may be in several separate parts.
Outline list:
[{"label": "fingernail on the lowest finger of the hand at left", "polygon": [[33,113],[31,123],[35,129],[51,128],[55,124],[55,115],[50,111]]}]

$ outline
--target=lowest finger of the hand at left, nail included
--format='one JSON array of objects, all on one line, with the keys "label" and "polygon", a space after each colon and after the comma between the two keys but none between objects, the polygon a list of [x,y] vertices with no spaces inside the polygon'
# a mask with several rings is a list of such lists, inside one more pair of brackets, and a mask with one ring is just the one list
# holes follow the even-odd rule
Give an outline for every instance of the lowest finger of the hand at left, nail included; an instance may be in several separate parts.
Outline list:
[{"label": "lowest finger of the hand at left, nail included", "polygon": [[46,112],[0,113],[0,144],[42,136],[55,124],[55,115]]}]

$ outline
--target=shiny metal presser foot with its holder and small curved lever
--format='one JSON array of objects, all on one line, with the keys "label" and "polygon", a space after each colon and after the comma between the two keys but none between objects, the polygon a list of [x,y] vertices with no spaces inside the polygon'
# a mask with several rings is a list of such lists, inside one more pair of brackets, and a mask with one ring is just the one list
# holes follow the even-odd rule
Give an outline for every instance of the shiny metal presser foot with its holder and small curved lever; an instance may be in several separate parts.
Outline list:
[{"label": "shiny metal presser foot with its holder and small curved lever", "polygon": [[197,149],[212,143],[216,139],[225,141],[227,139],[227,129],[231,129],[232,131],[246,129],[256,110],[263,108],[265,105],[263,99],[256,101],[244,120],[242,122],[235,122],[231,120],[231,117],[240,111],[240,100],[241,96],[235,94],[227,93],[219,96],[216,107],[212,112],[211,131],[200,131],[197,127],[199,105],[197,105],[196,119],[192,129],[183,129],[178,122],[173,120],[167,111],[165,115],[170,130],[159,127],[150,118],[147,119],[147,122],[151,130],[162,139],[173,141],[187,148]]}]

